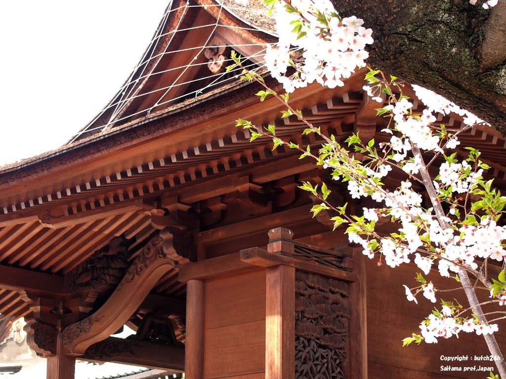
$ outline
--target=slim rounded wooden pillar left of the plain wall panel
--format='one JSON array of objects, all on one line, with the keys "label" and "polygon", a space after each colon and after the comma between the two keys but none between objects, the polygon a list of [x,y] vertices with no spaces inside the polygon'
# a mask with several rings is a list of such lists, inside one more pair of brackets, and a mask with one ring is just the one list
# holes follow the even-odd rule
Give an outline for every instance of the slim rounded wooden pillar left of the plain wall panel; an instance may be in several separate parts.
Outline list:
[{"label": "slim rounded wooden pillar left of the plain wall panel", "polygon": [[192,279],[186,284],[185,377],[204,377],[204,281]]}]

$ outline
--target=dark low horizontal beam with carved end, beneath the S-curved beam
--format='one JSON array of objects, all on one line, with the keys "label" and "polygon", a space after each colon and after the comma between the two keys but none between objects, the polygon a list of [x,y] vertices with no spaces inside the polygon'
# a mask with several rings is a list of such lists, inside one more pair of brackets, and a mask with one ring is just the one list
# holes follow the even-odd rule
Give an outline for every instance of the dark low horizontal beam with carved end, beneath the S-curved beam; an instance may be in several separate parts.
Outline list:
[{"label": "dark low horizontal beam with carved end, beneath the S-curved beam", "polygon": [[[79,359],[92,362],[135,364],[171,371],[184,371],[184,347],[149,341],[109,337],[90,346]],[[49,377],[49,376],[48,376]]]}]

